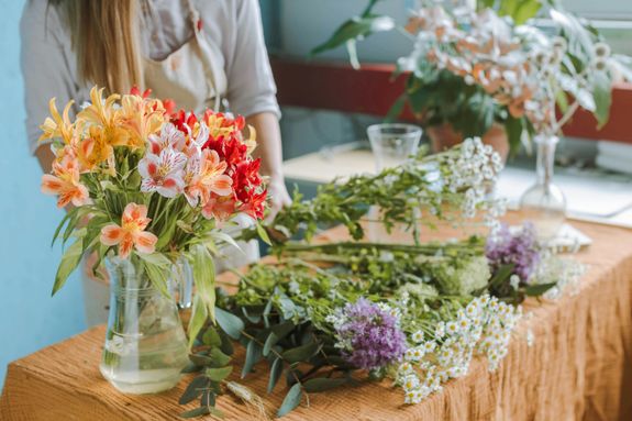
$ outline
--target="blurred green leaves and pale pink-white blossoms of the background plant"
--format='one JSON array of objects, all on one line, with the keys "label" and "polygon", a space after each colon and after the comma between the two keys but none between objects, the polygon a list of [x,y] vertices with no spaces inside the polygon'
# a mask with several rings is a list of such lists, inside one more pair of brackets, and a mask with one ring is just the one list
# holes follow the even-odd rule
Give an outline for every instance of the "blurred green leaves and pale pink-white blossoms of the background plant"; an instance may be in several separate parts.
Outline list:
[{"label": "blurred green leaves and pale pink-white blossoms of the background plant", "polygon": [[[355,43],[396,26],[374,12],[378,2],[370,1],[312,54],[346,45],[358,67]],[[408,79],[387,119],[409,104],[425,126],[447,124],[463,137],[483,136],[500,124],[515,151],[525,134],[557,133],[578,108],[602,126],[612,80],[632,77],[630,60],[611,55],[594,27],[559,4],[484,0],[477,10],[422,4],[398,27],[412,48],[397,62],[396,75],[407,73]]]}]

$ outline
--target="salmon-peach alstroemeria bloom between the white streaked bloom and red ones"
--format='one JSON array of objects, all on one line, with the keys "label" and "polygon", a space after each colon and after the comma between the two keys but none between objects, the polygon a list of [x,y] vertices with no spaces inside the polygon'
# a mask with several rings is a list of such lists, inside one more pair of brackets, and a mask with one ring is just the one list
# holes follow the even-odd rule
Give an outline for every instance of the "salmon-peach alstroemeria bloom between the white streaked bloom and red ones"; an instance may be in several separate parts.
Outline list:
[{"label": "salmon-peach alstroemeria bloom between the white streaked bloom and red ones", "polygon": [[226,163],[220,160],[215,151],[204,149],[200,156],[189,158],[185,179],[185,197],[189,204],[197,206],[199,201],[204,206],[211,193],[229,196],[233,192],[231,177],[224,174]]}]

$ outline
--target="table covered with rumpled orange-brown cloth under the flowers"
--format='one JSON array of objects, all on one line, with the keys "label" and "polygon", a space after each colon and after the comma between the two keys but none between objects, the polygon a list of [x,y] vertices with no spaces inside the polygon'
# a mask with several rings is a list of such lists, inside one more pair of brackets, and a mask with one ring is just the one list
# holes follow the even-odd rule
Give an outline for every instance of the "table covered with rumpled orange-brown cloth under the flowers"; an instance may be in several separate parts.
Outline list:
[{"label": "table covered with rumpled orange-brown cloth under the flowers", "polygon": [[[517,219],[519,215],[513,215]],[[589,265],[579,291],[532,312],[496,373],[475,358],[469,374],[418,406],[402,406],[388,381],[311,395],[288,420],[632,420],[632,232],[574,223],[595,241],[577,255]],[[336,229],[329,240],[346,236]],[[525,341],[528,326],[535,342]],[[0,419],[173,420],[185,381],[155,396],[125,396],[99,374],[104,328],[98,326],[9,365]],[[265,364],[265,363],[262,363]],[[241,370],[235,370],[241,372]],[[247,377],[270,414],[285,395],[267,396],[265,366]],[[193,403],[195,405],[195,403]],[[255,419],[232,396],[219,399],[229,420]]]}]

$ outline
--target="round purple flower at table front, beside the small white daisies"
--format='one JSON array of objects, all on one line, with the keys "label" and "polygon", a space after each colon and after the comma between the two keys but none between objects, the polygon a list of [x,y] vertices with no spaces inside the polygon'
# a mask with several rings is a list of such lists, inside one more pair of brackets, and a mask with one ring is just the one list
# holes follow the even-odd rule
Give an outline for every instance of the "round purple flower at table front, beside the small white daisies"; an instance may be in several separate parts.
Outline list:
[{"label": "round purple flower at table front, beside the small white daisies", "polygon": [[384,367],[401,358],[407,348],[397,317],[364,298],[345,306],[336,333],[343,356],[358,368]]}]

